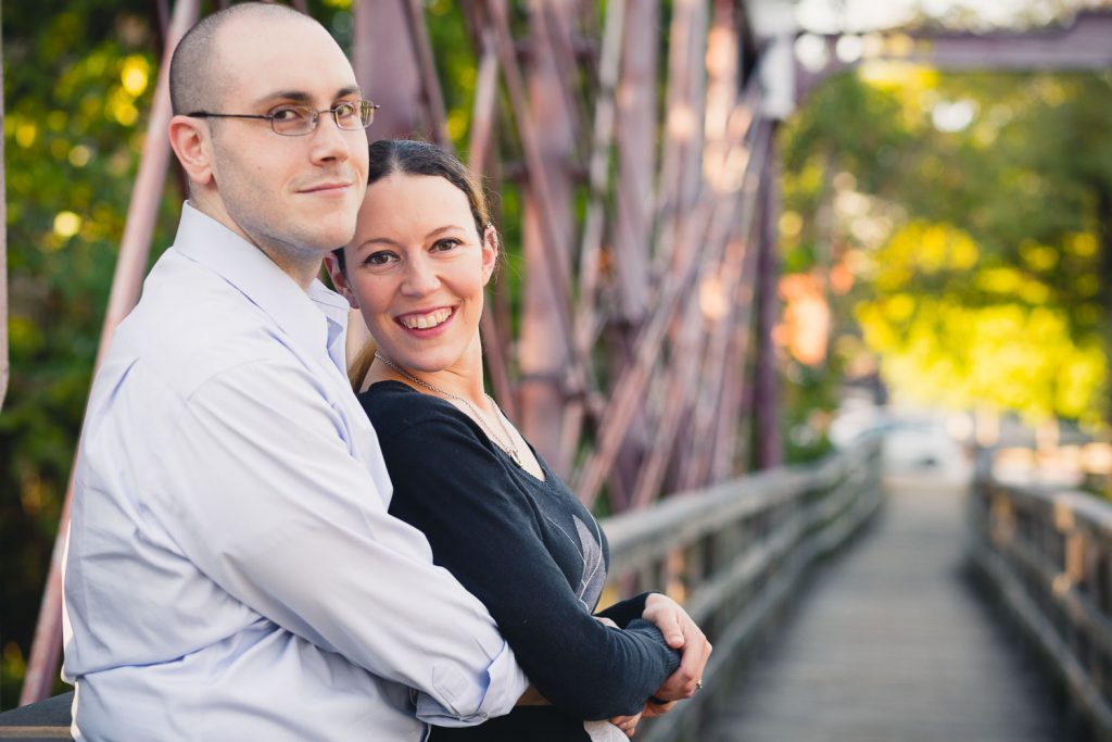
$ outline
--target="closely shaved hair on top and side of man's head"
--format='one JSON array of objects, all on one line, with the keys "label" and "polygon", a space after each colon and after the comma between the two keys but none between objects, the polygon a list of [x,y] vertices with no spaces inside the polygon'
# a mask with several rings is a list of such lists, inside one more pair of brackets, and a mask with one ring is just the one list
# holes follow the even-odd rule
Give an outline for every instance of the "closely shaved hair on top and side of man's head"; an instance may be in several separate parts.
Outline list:
[{"label": "closely shaved hair on top and side of man's head", "polygon": [[235,26],[240,26],[242,31],[252,22],[290,19],[319,26],[316,20],[288,6],[262,2],[241,2],[202,18],[181,37],[170,60],[170,105],[173,113],[181,116],[219,106],[230,72],[226,66],[217,63],[221,31]]}]

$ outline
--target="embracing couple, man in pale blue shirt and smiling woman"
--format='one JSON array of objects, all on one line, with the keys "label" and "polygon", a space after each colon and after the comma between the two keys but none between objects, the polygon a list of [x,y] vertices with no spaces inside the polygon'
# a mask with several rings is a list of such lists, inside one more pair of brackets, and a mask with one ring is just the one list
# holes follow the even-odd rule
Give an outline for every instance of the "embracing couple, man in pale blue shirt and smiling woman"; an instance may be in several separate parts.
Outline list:
[{"label": "embracing couple, man in pale blue shirt and smiling woman", "polygon": [[596,613],[604,534],[484,393],[476,179],[368,148],[342,51],[282,6],[207,17],[170,85],[189,200],[76,472],[75,736],[608,740],[694,693],[703,633],[655,593]]}]

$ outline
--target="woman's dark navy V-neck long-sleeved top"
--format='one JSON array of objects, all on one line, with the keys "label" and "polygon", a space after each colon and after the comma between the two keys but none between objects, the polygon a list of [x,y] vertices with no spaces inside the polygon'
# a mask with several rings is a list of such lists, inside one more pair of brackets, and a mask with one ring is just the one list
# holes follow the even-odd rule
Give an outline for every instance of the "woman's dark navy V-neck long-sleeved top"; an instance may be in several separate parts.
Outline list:
[{"label": "woman's dark navy V-neck long-sleeved top", "polygon": [[542,482],[448,402],[399,382],[359,395],[394,483],[390,513],[420,528],[434,561],[490,611],[552,706],[523,706],[435,740],[588,740],[584,720],[636,713],[679,663],[641,620],[645,596],[599,615],[606,537],[537,456]]}]

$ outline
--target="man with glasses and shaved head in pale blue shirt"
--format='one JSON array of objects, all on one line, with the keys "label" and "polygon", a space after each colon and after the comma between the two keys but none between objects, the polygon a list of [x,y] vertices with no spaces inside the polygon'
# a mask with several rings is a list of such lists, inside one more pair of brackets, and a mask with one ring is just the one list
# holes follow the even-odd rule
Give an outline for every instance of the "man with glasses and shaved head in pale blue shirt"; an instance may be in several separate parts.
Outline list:
[{"label": "man with glasses and shaved head in pale blue shirt", "polygon": [[366,188],[350,65],[316,21],[242,3],[181,40],[170,80],[189,202],[97,375],[76,472],[75,736],[416,741],[418,718],[506,713],[527,681],[387,515],[347,305],[316,280]]}]

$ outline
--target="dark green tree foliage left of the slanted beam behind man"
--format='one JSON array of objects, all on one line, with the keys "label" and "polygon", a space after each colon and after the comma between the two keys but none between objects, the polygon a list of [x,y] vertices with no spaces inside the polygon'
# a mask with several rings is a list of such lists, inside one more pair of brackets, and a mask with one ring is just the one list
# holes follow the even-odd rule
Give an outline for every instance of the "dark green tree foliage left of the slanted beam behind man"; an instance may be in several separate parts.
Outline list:
[{"label": "dark green tree foliage left of the slanted beam behind man", "polygon": [[[30,647],[142,145],[159,43],[152,8],[139,0],[4,8],[3,706],[17,700]],[[158,243],[166,239],[163,230]]]}]

